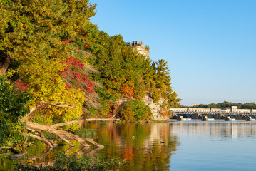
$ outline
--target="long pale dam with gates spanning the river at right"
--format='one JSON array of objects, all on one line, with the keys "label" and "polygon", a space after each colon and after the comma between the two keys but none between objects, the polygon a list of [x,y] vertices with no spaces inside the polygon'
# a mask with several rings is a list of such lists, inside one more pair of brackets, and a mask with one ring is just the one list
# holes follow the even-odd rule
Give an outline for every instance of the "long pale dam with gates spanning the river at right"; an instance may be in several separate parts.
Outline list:
[{"label": "long pale dam with gates spanning the river at right", "polygon": [[170,108],[171,120],[247,120],[256,119],[256,109],[221,108]]}]

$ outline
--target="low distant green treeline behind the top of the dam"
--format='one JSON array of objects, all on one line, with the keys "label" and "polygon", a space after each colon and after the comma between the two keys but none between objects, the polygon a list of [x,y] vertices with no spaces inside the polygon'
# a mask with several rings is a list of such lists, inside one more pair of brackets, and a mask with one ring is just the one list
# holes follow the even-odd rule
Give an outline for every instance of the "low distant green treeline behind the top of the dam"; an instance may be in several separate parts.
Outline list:
[{"label": "low distant green treeline behind the top of the dam", "polygon": [[208,105],[200,104],[194,105],[193,108],[231,108],[231,106],[237,106],[239,109],[252,109],[256,108],[256,104],[254,102],[251,103],[232,103],[224,101],[222,103],[210,103]]}]

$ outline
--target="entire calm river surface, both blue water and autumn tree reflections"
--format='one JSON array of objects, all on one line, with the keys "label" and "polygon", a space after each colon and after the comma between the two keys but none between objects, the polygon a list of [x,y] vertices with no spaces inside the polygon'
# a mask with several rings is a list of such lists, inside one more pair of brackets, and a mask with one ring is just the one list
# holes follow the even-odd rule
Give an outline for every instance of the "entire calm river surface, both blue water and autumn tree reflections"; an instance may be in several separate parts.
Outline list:
[{"label": "entire calm river surface, both blue water and autumn tree reflections", "polygon": [[[89,123],[100,148],[57,147],[47,155],[41,142],[29,148],[29,160],[51,162],[54,153],[122,157],[121,170],[256,170],[256,122]],[[32,158],[32,156],[34,156]],[[36,157],[35,157],[36,156]],[[16,162],[0,155],[0,170]]]}]

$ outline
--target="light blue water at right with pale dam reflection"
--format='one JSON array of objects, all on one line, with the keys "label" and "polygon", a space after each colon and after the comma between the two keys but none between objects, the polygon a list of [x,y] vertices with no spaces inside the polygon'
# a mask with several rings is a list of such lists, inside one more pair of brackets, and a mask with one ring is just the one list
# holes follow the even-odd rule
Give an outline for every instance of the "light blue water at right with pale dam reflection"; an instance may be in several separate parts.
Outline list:
[{"label": "light blue water at right with pale dam reflection", "polygon": [[180,122],[171,170],[255,170],[256,122]]}]

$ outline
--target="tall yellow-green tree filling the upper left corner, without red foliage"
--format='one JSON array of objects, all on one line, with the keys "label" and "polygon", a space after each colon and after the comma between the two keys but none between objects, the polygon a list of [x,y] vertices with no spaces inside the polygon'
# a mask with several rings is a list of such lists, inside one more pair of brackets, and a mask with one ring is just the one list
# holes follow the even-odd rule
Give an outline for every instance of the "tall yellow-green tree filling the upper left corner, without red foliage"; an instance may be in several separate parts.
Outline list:
[{"label": "tall yellow-green tree filling the upper left corner, without red foliage", "polygon": [[78,87],[67,88],[63,81],[66,75],[61,74],[67,66],[66,60],[78,48],[63,41],[75,38],[76,28],[89,23],[96,5],[88,0],[4,0],[0,3],[1,73],[5,73],[7,67],[12,68],[16,71],[14,81],[20,79],[28,83],[32,96],[30,108],[41,100],[76,106],[72,110],[43,108],[41,113],[36,113],[39,117],[34,121],[51,124],[78,119],[86,93]]}]

